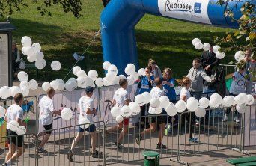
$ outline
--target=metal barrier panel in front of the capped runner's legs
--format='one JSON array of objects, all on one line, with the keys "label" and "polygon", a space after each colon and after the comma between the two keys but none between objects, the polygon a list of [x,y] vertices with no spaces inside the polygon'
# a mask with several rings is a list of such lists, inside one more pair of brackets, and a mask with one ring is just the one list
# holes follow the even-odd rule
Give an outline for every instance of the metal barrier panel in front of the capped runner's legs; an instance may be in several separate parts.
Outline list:
[{"label": "metal barrier panel in front of the capped runner's legs", "polygon": [[[67,126],[60,129],[52,129],[40,132],[37,136],[40,140],[47,137],[46,133],[51,132],[51,136],[47,144],[43,147],[43,153],[37,152],[37,165],[104,165],[104,128],[96,127],[94,132],[79,132],[79,126],[83,129],[90,126],[105,126],[103,121],[95,123],[86,123],[84,125]],[[86,130],[85,130],[86,131]],[[94,135],[95,134],[95,135]],[[77,136],[77,144],[73,147],[73,162],[67,159],[67,154],[73,144],[73,139]],[[94,139],[91,139],[94,138]],[[40,147],[40,142],[37,145]],[[96,150],[100,153],[100,157],[92,156],[92,144],[96,145]]]}]

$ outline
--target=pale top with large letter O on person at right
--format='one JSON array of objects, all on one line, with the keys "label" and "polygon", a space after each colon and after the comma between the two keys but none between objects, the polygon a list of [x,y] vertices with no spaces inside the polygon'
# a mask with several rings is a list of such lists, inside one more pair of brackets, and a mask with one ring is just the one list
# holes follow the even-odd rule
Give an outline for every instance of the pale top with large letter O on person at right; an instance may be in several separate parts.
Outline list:
[{"label": "pale top with large letter O on person at right", "polygon": [[233,81],[231,83],[230,93],[239,94],[239,93],[245,93],[246,92],[245,76],[246,76],[246,73],[240,74],[238,72],[235,72],[233,74]]}]

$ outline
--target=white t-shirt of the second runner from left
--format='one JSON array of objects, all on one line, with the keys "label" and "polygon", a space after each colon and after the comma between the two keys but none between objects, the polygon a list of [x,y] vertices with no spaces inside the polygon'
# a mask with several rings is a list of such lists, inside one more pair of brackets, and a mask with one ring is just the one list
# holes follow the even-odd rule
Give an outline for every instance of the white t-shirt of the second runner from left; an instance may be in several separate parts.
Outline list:
[{"label": "white t-shirt of the second runner from left", "polygon": [[43,96],[38,106],[40,107],[39,119],[42,124],[52,124],[52,112],[54,111],[52,99],[50,99],[49,96]]}]

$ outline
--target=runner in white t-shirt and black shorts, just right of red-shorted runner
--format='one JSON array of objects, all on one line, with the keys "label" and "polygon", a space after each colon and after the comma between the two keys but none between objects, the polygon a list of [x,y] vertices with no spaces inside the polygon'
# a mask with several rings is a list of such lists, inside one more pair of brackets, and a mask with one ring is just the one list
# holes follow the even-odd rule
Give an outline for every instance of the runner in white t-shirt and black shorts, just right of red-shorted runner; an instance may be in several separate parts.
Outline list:
[{"label": "runner in white t-shirt and black shorts, just right of red-shorted runner", "polygon": [[[156,98],[159,99],[161,96],[164,95],[164,91],[162,90],[162,79],[160,78],[156,78],[154,80],[156,87],[153,87],[152,90],[150,91],[150,95],[152,96],[152,98]],[[166,146],[164,144],[162,144],[162,138],[164,136],[164,132],[165,132],[165,123],[167,121],[167,114],[166,111],[164,109],[162,109],[162,113],[160,114],[154,114],[156,108],[152,108],[150,106],[148,113],[150,115],[158,115],[156,117],[150,117],[150,128],[148,129],[144,129],[143,132],[140,133],[140,135],[137,135],[135,141],[137,144],[141,144],[141,138],[143,135],[146,135],[147,133],[150,132],[155,132],[156,131],[156,125],[159,125],[159,134],[158,134],[158,143],[156,144],[156,148],[157,149],[166,149]]]}]

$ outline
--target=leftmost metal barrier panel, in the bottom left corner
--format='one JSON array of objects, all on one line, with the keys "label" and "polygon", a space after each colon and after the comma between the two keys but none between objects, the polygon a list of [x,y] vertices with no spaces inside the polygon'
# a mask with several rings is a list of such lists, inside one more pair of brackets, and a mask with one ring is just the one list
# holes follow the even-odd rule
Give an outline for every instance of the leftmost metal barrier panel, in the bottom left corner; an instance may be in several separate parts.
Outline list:
[{"label": "leftmost metal barrier panel, in the bottom left corner", "polygon": [[[28,141],[28,138],[32,138],[33,135],[25,134],[25,135],[12,135],[12,136],[4,136],[1,137],[1,141],[7,141],[9,140],[12,144],[12,152],[14,155],[17,153],[19,156],[19,159],[13,158],[11,160],[11,165],[37,165],[37,156],[36,156],[36,145],[31,143],[31,141]],[[24,138],[23,141],[22,137]],[[16,142],[15,144],[13,142]],[[21,142],[21,143],[19,143]],[[23,146],[20,146],[19,144],[23,144]],[[19,146],[19,147],[18,147]],[[0,148],[0,162],[1,164],[5,161],[5,159],[10,159],[9,153],[10,148]]]}]

